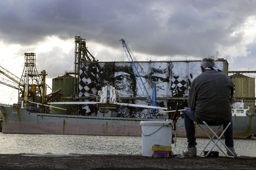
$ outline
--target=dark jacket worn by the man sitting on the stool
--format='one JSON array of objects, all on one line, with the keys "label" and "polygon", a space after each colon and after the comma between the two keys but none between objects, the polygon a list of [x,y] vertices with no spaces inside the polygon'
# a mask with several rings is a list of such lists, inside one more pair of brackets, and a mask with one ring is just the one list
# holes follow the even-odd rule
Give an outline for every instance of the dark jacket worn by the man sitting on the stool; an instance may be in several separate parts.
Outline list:
[{"label": "dark jacket worn by the man sitting on the stool", "polygon": [[205,70],[190,87],[188,104],[201,120],[225,122],[231,119],[234,84],[221,71]]}]

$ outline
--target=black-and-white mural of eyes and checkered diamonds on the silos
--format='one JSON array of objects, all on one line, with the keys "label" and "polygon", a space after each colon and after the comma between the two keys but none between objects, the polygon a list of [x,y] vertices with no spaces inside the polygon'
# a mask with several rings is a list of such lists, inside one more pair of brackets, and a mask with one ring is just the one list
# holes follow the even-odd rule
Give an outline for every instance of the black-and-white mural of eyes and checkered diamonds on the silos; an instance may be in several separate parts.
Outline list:
[{"label": "black-and-white mural of eyes and checkered diamonds on the silos", "polygon": [[[226,63],[226,64],[224,64]],[[201,74],[200,61],[166,61],[166,62],[138,62],[143,68],[140,75],[144,85],[152,96],[152,85],[156,84],[157,105],[175,109],[176,103],[168,100],[171,97],[183,97],[189,93],[190,85],[195,77]],[[216,61],[218,68],[228,70],[227,61]],[[79,97],[96,96],[105,85],[113,85],[120,97],[134,97],[133,100],[123,100],[124,103],[144,104],[145,100],[137,83],[130,63],[128,62],[98,62],[81,63],[79,80]],[[161,99],[164,98],[164,99]],[[182,108],[187,107],[186,102]],[[95,105],[81,106],[79,114],[95,115]],[[119,106],[116,110],[122,117],[150,117],[149,109]]]}]

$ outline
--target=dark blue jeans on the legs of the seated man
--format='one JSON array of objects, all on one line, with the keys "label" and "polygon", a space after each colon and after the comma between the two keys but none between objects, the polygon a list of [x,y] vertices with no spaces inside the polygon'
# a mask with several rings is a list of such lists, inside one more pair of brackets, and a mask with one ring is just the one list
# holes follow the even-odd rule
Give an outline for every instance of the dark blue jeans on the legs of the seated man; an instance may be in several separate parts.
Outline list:
[{"label": "dark blue jeans on the legs of the seated man", "polygon": [[[197,143],[195,142],[195,126],[194,122],[199,122],[203,121],[201,119],[198,119],[195,116],[195,110],[191,110],[190,108],[185,109],[184,111],[184,124],[186,128],[186,134],[187,134],[187,139],[189,146],[196,145]],[[225,137],[225,144],[228,147],[234,147],[234,141],[233,141],[233,122],[232,118],[230,119],[230,126],[228,127],[227,131],[224,133]],[[225,129],[228,125],[228,122],[223,124],[223,129]]]}]

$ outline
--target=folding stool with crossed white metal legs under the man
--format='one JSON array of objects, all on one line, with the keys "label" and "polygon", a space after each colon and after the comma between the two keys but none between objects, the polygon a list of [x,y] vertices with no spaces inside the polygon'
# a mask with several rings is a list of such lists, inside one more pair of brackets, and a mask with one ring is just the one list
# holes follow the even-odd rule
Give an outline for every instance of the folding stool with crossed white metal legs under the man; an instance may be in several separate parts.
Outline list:
[{"label": "folding stool with crossed white metal legs under the man", "polygon": [[[221,128],[221,126],[223,126],[223,124],[225,124],[227,122],[223,122],[223,123],[216,123],[216,122],[205,122],[205,121],[201,121],[201,122],[197,122],[198,126],[202,129],[202,131],[204,131],[204,133],[208,136],[208,138],[210,139],[209,142],[207,143],[207,145],[204,147],[204,149],[201,151],[201,153],[199,154],[199,156],[201,157],[207,157],[210,152],[213,150],[214,146],[217,146],[221,152],[225,155],[225,156],[228,156],[227,153],[225,153],[221,148],[220,146],[217,144],[218,141],[220,141],[224,146],[225,148],[230,152],[232,153],[233,156],[228,156],[228,157],[232,157],[234,158],[235,155],[232,151],[230,151],[230,149],[227,147],[227,145],[225,145],[225,143],[221,140],[221,137],[223,136],[223,134],[225,133],[225,131],[227,131],[228,127],[230,126],[231,122],[228,123],[227,127],[223,130],[223,132],[221,133],[220,136],[217,135],[217,132],[219,131],[219,129]],[[206,127],[213,133],[213,136],[211,137],[205,130],[204,128],[202,127],[202,124],[206,125]],[[218,126],[218,129],[216,130],[216,132],[213,131],[213,129],[211,129],[210,126]],[[216,141],[214,141],[214,137],[217,138]],[[207,148],[207,146],[211,143],[211,141],[214,143],[213,146],[211,147],[211,149],[208,151],[208,153],[206,155],[202,155],[202,153],[204,152],[204,150]]]}]

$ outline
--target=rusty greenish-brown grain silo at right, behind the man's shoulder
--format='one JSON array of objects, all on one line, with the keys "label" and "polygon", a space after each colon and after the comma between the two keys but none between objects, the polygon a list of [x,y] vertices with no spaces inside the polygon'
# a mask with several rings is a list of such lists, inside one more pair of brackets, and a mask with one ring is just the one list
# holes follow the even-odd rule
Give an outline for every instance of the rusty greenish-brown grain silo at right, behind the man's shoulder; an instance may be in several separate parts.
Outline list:
[{"label": "rusty greenish-brown grain silo at right, behind the man's shoulder", "polygon": [[[235,98],[254,98],[255,97],[255,76],[234,74],[230,76],[235,84]],[[244,102],[244,106],[250,107],[250,113],[255,112],[254,102]]]}]

